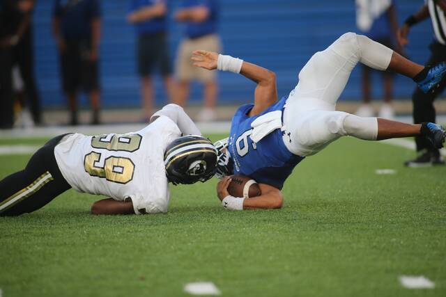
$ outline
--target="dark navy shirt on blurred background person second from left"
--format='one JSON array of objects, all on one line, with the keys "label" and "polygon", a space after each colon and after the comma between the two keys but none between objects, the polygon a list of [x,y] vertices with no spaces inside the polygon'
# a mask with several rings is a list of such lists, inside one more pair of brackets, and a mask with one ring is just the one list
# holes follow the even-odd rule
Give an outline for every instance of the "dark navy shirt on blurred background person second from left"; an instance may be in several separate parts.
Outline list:
[{"label": "dark navy shirt on blurred background person second from left", "polygon": [[61,19],[63,38],[91,38],[91,21],[100,17],[98,0],[55,0],[53,17]]}]

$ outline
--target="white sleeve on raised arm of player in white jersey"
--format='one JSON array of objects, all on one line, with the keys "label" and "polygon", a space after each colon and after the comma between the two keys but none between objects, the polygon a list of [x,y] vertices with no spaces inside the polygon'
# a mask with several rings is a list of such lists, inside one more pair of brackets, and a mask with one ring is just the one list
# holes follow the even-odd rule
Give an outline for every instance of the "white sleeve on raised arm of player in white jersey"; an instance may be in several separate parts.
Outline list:
[{"label": "white sleeve on raised arm of player in white jersey", "polygon": [[167,116],[167,118],[174,121],[174,123],[180,129],[181,133],[183,133],[184,135],[192,134],[201,136],[201,132],[198,129],[197,125],[195,125],[191,118],[189,118],[189,115],[185,113],[183,107],[176,104],[167,104],[160,111],[154,113],[152,115],[152,118],[159,117],[160,115]]}]

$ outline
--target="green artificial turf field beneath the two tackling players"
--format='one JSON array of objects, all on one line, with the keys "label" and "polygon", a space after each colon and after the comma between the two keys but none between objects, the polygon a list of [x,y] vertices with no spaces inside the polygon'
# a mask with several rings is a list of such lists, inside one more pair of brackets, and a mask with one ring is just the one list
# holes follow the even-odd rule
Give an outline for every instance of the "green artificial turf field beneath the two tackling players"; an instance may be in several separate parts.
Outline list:
[{"label": "green artificial turf field beneath the two tackling players", "polygon": [[[295,168],[271,211],[224,210],[216,179],[172,186],[169,213],[147,216],[92,216],[98,197],[70,190],[0,218],[2,296],[187,296],[197,281],[222,296],[446,296],[446,168],[404,168],[413,155],[342,139]],[[0,156],[0,178],[28,158]]]}]

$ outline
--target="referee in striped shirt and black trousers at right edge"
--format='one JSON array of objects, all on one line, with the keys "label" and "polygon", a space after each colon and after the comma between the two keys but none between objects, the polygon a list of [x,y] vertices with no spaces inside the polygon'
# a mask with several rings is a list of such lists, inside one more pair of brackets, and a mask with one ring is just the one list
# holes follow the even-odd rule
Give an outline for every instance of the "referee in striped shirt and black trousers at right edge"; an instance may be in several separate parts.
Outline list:
[{"label": "referee in striped shirt and black trousers at right edge", "polygon": [[[435,65],[446,61],[446,0],[427,0],[424,6],[414,15],[410,15],[398,31],[398,41],[401,46],[408,44],[408,34],[410,26],[422,22],[431,17],[434,39],[429,45],[431,56],[426,65]],[[424,93],[420,88],[415,88],[413,101],[413,122],[435,122],[436,110],[433,101],[445,90],[446,81],[440,84],[439,88],[433,92]],[[433,165],[445,165],[445,161],[440,156],[440,151],[432,146],[429,141],[423,137],[415,136],[417,145],[417,158],[406,161],[405,165],[409,167],[425,167]]]}]

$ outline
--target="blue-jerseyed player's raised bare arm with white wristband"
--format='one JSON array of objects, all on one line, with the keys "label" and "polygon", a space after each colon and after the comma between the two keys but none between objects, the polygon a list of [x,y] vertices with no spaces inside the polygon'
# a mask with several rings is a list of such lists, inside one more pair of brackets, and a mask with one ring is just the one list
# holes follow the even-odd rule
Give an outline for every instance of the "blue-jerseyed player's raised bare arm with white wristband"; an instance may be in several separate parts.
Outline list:
[{"label": "blue-jerseyed player's raised bare arm with white wristband", "polygon": [[268,109],[277,101],[276,75],[274,72],[238,58],[224,56],[213,51],[193,51],[194,66],[207,70],[222,70],[240,73],[254,81],[257,86],[254,91],[254,107],[249,116],[257,115]]}]

